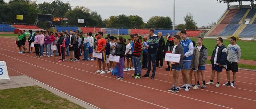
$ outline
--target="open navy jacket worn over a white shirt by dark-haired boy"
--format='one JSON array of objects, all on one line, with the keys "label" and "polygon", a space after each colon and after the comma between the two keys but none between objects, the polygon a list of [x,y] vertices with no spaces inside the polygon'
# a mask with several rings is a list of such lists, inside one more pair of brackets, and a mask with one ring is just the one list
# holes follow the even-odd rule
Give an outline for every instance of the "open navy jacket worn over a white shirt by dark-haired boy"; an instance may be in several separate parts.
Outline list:
[{"label": "open navy jacket worn over a white shirt by dark-haired boy", "polygon": [[[218,45],[215,46],[214,50],[213,50],[213,54],[211,57],[211,63],[214,64],[214,58],[215,58],[215,54],[216,54],[216,49],[217,49]],[[222,67],[227,68],[227,49],[225,47],[225,45],[221,45],[218,48],[217,51],[217,61],[216,61],[216,65],[221,65]]]}]

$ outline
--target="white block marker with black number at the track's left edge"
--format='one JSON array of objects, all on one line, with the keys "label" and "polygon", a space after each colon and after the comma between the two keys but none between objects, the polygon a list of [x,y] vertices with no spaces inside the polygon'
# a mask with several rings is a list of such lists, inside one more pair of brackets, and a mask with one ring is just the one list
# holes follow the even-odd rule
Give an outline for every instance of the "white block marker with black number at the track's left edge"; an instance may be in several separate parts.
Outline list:
[{"label": "white block marker with black number at the track's left edge", "polygon": [[11,80],[8,75],[7,66],[5,61],[0,61],[0,84],[10,83]]}]

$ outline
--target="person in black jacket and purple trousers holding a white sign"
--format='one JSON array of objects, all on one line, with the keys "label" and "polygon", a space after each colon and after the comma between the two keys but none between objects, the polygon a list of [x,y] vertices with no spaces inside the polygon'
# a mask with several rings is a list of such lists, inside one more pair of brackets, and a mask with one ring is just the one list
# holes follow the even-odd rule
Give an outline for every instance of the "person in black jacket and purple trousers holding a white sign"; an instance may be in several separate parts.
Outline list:
[{"label": "person in black jacket and purple trousers holding a white sign", "polygon": [[124,66],[125,50],[126,50],[126,44],[124,43],[123,37],[119,36],[117,39],[117,45],[115,47],[115,53],[113,54],[113,55],[120,56],[119,63],[115,63],[115,66],[116,66],[118,74],[119,74],[118,77],[116,77],[116,79],[123,79],[123,66]]}]

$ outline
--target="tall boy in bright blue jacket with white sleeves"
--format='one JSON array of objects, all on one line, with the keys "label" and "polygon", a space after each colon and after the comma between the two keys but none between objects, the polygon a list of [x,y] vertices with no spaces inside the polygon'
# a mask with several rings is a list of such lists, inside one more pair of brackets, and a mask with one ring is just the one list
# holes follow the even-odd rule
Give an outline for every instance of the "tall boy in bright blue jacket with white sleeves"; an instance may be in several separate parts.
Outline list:
[{"label": "tall boy in bright blue jacket with white sleeves", "polygon": [[185,30],[180,33],[182,40],[180,41],[180,45],[184,49],[184,57],[182,61],[182,80],[184,85],[179,87],[179,89],[185,89],[185,91],[189,91],[190,82],[189,82],[189,70],[192,63],[192,55],[194,52],[194,46],[192,41],[187,37],[187,32]]}]

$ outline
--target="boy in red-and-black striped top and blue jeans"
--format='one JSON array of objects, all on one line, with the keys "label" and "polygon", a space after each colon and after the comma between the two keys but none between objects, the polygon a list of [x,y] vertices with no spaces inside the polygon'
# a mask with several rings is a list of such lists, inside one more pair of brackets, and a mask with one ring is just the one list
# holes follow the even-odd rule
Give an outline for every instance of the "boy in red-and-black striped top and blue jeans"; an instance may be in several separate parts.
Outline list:
[{"label": "boy in red-and-black striped top and blue jeans", "polygon": [[134,49],[133,49],[133,65],[135,72],[132,77],[135,79],[141,78],[141,64],[140,64],[140,56],[141,56],[141,41],[138,39],[138,35],[134,35]]}]

